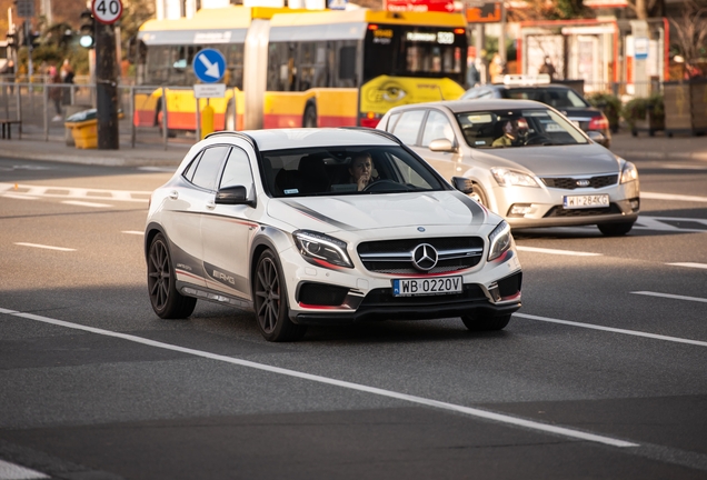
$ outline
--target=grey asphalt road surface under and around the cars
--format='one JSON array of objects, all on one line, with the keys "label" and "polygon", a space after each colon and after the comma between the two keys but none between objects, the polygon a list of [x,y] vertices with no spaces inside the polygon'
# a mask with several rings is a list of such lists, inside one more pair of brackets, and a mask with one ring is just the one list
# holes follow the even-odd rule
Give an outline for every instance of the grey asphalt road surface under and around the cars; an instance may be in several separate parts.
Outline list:
[{"label": "grey asphalt road surface under and around the cars", "polygon": [[0,160],[0,480],[704,479],[707,162],[629,160],[629,236],[515,233],[506,330],[288,344],[212,303],[155,316],[141,231],[168,172]]}]

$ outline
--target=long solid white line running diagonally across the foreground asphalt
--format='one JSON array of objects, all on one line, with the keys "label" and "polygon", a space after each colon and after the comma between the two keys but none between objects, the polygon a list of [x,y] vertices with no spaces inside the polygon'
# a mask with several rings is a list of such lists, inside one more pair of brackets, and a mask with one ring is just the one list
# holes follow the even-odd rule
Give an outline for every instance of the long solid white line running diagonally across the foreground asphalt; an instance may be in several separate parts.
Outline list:
[{"label": "long solid white line running diagonally across the foreground asphalt", "polygon": [[98,328],[94,328],[94,327],[82,326],[82,324],[79,324],[79,323],[71,323],[71,322],[67,322],[67,321],[63,321],[63,320],[52,319],[52,318],[49,318],[49,317],[37,316],[37,314],[33,314],[33,313],[21,313],[21,312],[18,312],[16,310],[7,310],[7,309],[2,309],[2,308],[0,308],[0,313],[7,313],[7,314],[14,316],[14,317],[21,317],[21,318],[26,318],[26,319],[29,319],[29,320],[36,320],[36,321],[40,321],[40,322],[44,322],[44,323],[51,323],[51,324],[56,324],[56,326],[60,326],[60,327],[74,329],[74,330],[83,330],[83,331],[88,331],[88,332],[97,333],[97,334],[102,334],[102,336],[107,336],[107,337],[120,338],[120,339],[132,341],[132,342],[136,342],[136,343],[142,343],[142,344],[146,344],[146,346],[161,348],[161,349],[171,350],[171,351],[178,351],[178,352],[192,354],[192,356],[196,356],[196,357],[201,357],[201,358],[206,358],[206,359],[210,359],[210,360],[216,360],[216,361],[221,361],[221,362],[226,362],[226,363],[237,364],[237,366],[240,366],[240,367],[248,367],[248,368],[262,370],[262,371],[267,371],[267,372],[271,372],[271,373],[278,373],[278,374],[283,374],[283,376],[287,376],[287,377],[300,378],[300,379],[303,379],[303,380],[310,380],[310,381],[315,381],[315,382],[319,382],[319,383],[341,387],[341,388],[349,389],[349,390],[357,390],[357,391],[372,393],[372,394],[377,394],[377,396],[381,396],[381,397],[387,397],[387,398],[392,398],[392,399],[397,399],[397,400],[408,401],[408,402],[411,402],[411,403],[422,404],[422,406],[427,406],[427,407],[434,407],[434,408],[448,410],[448,411],[455,411],[455,412],[459,412],[459,413],[466,413],[466,414],[471,416],[471,417],[482,418],[482,419],[487,419],[487,420],[494,420],[494,421],[497,421],[497,422],[500,422],[500,423],[507,423],[507,424],[512,424],[512,426],[517,426],[517,427],[525,427],[527,429],[542,431],[542,432],[547,432],[547,433],[554,433],[554,434],[558,434],[558,436],[562,436],[562,437],[569,437],[569,438],[572,438],[572,439],[593,441],[593,442],[604,443],[604,444],[608,444],[608,446],[613,446],[613,447],[621,447],[621,448],[623,447],[639,447],[638,443],[633,443],[633,442],[628,442],[628,441],[625,441],[625,440],[618,440],[618,439],[614,439],[614,438],[610,438],[610,437],[598,436],[598,434],[594,434],[594,433],[589,433],[589,432],[584,432],[584,431],[580,431],[580,430],[574,430],[574,429],[568,429],[568,428],[564,428],[564,427],[554,426],[554,424],[541,423],[541,422],[537,422],[537,421],[532,421],[532,420],[526,420],[526,419],[511,417],[511,416],[507,416],[507,414],[495,413],[495,412],[490,412],[490,411],[486,411],[486,410],[479,410],[479,409],[475,409],[475,408],[458,406],[458,404],[455,404],[455,403],[447,403],[447,402],[442,402],[442,401],[438,401],[438,400],[427,399],[427,398],[424,398],[424,397],[416,397],[416,396],[411,396],[411,394],[407,394],[407,393],[400,393],[400,392],[396,392],[396,391],[392,391],[392,390],[385,390],[385,389],[380,389],[380,388],[376,388],[376,387],[368,387],[368,386],[360,384],[360,383],[352,383],[352,382],[348,382],[348,381],[343,381],[343,380],[336,380],[336,379],[331,379],[331,378],[328,378],[328,377],[320,377],[320,376],[316,376],[316,374],[311,374],[311,373],[305,373],[305,372],[300,372],[300,371],[296,371],[296,370],[289,370],[289,369],[285,369],[285,368],[280,368],[280,367],[272,367],[272,366],[265,364],[265,363],[257,363],[257,362],[242,360],[242,359],[238,359],[238,358],[233,358],[233,357],[226,357],[226,356],[221,356],[221,354],[217,354],[217,353],[210,353],[210,352],[206,352],[206,351],[202,351],[202,350],[195,350],[195,349],[179,347],[179,346],[175,346],[175,344],[170,344],[170,343],[158,342],[158,341],[149,340],[149,339],[146,339],[146,338],[142,338],[142,337],[136,337],[136,336],[132,336],[132,334],[120,333],[120,332],[116,332],[116,331],[111,331],[111,330],[98,329]]}]

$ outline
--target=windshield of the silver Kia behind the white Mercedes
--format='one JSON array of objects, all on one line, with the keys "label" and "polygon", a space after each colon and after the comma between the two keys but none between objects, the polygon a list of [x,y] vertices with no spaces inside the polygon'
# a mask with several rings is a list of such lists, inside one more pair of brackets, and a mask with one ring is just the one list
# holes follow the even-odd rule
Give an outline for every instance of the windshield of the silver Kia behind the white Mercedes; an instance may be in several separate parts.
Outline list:
[{"label": "windshield of the silver Kia behind the white Mercedes", "polygon": [[519,148],[589,141],[565,117],[549,109],[505,109],[457,113],[469,147]]}]

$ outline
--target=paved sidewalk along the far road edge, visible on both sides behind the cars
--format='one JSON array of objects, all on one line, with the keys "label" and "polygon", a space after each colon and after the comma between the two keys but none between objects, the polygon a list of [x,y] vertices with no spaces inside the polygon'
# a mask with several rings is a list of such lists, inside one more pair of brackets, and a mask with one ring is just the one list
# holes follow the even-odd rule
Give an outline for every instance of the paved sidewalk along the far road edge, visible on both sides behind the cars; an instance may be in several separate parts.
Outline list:
[{"label": "paved sidewalk along the far road edge, visible on both sides behind the cars", "polygon": [[[63,138],[50,137],[49,141],[44,141],[36,136],[22,136],[22,140],[0,139],[0,157],[110,167],[177,167],[191,144],[180,139],[171,141],[167,150],[159,142],[136,143],[136,148],[132,148],[123,137],[119,150],[82,150],[68,147]],[[655,137],[641,132],[633,137],[629,131],[621,130],[611,138],[611,151],[633,160],[707,161],[707,136],[668,138],[663,132],[657,132]]]}]

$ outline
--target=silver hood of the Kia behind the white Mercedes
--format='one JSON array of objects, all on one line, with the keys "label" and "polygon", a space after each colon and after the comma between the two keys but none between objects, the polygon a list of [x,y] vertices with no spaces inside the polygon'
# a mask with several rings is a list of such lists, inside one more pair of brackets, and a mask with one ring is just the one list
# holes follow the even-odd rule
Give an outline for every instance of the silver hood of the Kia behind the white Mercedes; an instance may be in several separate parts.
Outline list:
[{"label": "silver hood of the Kia behind the white Mercedes", "polygon": [[614,153],[600,144],[477,149],[471,163],[506,167],[542,176],[584,176],[619,171]]}]

